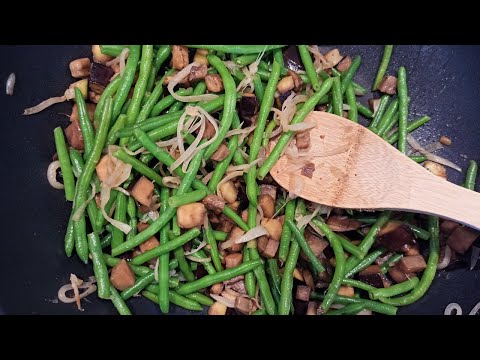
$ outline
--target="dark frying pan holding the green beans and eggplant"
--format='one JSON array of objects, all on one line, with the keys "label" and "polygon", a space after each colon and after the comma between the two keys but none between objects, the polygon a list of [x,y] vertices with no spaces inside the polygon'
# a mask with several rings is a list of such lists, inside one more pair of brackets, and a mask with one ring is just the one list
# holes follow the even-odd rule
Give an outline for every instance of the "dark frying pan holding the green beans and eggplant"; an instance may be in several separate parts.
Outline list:
[{"label": "dark frying pan holding the green beans and eggplant", "polygon": [[[332,47],[329,47],[332,48]],[[361,55],[355,80],[370,87],[382,46],[339,46],[342,53]],[[72,82],[68,64],[91,56],[90,46],[0,47],[0,109],[2,156],[2,234],[0,251],[0,313],[79,314],[73,304],[56,303],[57,291],[71,272],[92,275],[91,265],[63,252],[63,236],[70,204],[62,191],[48,185],[46,170],[55,152],[53,129],[66,126],[71,104],[60,104],[30,117],[23,109],[63,94]],[[442,155],[466,169],[468,159],[480,160],[480,47],[397,46],[389,74],[405,65],[411,97],[410,118],[430,115],[429,124],[416,132],[422,142],[448,135],[453,144]],[[15,72],[13,96],[5,95],[8,75]],[[366,102],[371,95],[362,98]],[[449,170],[449,179],[463,175]],[[395,186],[395,184],[392,184]],[[478,189],[478,188],[477,188]],[[465,209],[468,211],[468,209]],[[427,295],[399,314],[442,314],[450,302],[468,313],[480,301],[480,266],[461,266],[437,274]],[[135,314],[159,314],[158,306],[143,299],[129,302]],[[115,314],[109,301],[88,297],[84,314]],[[172,313],[185,310],[172,307]]]}]

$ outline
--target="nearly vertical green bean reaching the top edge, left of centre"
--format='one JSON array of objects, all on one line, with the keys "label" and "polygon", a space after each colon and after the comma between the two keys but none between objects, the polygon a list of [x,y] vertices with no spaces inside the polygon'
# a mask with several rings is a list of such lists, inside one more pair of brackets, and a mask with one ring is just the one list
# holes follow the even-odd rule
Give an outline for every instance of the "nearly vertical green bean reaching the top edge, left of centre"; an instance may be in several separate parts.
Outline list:
[{"label": "nearly vertical green bean reaching the top edge, left of centre", "polygon": [[[129,54],[130,60],[131,54]],[[147,89],[148,77],[150,76],[150,70],[152,68],[153,59],[153,45],[142,46],[142,58],[140,60],[140,71],[138,74],[135,88],[133,89],[132,102],[127,110],[127,124],[132,125],[137,121],[140,107],[142,105],[142,98]],[[127,63],[128,65],[128,63]],[[125,68],[125,71],[127,69]],[[125,73],[124,73],[125,74]]]}]

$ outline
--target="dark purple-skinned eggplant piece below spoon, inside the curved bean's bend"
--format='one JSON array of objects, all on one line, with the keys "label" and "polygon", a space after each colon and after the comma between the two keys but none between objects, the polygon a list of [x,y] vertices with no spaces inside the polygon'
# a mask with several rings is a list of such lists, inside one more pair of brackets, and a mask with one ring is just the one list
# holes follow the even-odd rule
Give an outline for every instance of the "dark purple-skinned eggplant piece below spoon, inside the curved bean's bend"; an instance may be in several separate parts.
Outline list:
[{"label": "dark purple-skinned eggplant piece below spoon, inside the curved bean's bend", "polygon": [[415,237],[410,227],[398,220],[390,220],[377,234],[380,246],[391,252],[407,252],[416,244]]}]

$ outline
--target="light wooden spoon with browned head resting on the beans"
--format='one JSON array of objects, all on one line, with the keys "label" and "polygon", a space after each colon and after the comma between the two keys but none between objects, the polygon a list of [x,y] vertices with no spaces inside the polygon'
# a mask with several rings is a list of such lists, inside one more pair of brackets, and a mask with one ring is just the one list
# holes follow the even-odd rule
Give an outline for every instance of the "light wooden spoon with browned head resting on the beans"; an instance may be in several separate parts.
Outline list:
[{"label": "light wooden spoon with browned head resting on the beans", "polygon": [[[419,212],[480,230],[479,193],[432,174],[350,120],[313,111],[305,122],[316,123],[310,148],[297,159],[284,153],[270,171],[285,189],[332,207]],[[313,168],[307,163],[315,167],[311,178],[302,175]]]}]

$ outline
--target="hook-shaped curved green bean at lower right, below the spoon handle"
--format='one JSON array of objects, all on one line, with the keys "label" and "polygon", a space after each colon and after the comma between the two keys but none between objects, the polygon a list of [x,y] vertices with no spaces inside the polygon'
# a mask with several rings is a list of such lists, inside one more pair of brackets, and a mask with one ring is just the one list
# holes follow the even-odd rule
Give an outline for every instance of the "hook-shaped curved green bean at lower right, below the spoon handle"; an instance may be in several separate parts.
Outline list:
[{"label": "hook-shaped curved green bean at lower right, below the spoon handle", "polygon": [[420,299],[427,292],[437,271],[438,257],[439,257],[439,220],[436,216],[428,217],[428,228],[430,236],[430,253],[428,255],[427,267],[423,271],[422,278],[417,286],[408,294],[398,298],[381,297],[380,301],[386,304],[395,306],[410,305],[411,303]]}]

